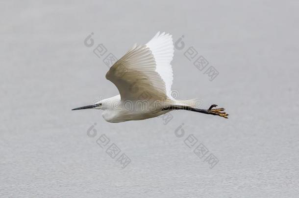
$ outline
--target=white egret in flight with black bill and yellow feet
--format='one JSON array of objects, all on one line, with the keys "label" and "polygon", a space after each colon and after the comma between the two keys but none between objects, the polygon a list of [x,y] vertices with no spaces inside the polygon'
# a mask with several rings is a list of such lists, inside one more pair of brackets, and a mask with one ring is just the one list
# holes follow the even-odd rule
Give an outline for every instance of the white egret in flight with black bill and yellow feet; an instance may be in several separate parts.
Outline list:
[{"label": "white egret in flight with black bill and yellow feet", "polygon": [[158,32],[145,45],[134,44],[106,74],[120,95],[73,110],[103,110],[107,122],[125,122],[156,117],[171,110],[191,110],[227,118],[224,109],[197,109],[196,100],[176,100],[171,96],[174,56],[172,35]]}]

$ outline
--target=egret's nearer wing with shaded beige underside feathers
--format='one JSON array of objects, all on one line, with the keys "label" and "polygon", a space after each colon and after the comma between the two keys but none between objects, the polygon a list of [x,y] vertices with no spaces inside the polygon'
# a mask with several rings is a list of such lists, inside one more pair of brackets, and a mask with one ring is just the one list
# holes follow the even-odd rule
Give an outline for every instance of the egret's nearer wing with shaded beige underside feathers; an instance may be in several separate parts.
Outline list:
[{"label": "egret's nearer wing with shaded beige underside feathers", "polygon": [[134,45],[110,67],[106,79],[119,90],[125,100],[162,100],[167,97],[165,83],[155,71],[155,59],[146,45]]}]

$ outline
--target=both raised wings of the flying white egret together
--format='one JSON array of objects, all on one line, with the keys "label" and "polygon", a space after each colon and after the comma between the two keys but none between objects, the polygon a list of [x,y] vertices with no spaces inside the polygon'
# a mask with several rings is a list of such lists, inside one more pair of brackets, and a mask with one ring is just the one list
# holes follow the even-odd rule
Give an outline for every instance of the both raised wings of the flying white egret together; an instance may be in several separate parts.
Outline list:
[{"label": "both raised wings of the flying white egret together", "polygon": [[134,45],[106,74],[125,100],[172,98],[172,36],[159,32],[146,45]]}]

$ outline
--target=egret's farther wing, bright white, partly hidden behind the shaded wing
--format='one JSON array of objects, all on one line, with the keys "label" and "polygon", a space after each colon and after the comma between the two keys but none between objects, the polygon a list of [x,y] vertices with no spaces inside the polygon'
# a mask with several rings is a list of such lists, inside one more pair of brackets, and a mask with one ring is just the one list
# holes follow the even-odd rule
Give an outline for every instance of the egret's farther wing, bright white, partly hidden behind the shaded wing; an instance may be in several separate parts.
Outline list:
[{"label": "egret's farther wing, bright white, partly hidden behind the shaded wing", "polygon": [[169,98],[172,98],[171,86],[174,80],[173,68],[170,65],[174,57],[172,35],[165,34],[165,32],[160,34],[160,32],[158,32],[146,45],[155,58],[156,71],[165,82],[166,94]]}]

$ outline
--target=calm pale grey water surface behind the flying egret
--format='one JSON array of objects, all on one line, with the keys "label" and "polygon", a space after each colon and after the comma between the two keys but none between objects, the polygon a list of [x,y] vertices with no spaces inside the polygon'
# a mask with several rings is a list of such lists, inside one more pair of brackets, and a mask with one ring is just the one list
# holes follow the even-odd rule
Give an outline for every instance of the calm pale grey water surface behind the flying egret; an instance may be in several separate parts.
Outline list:
[{"label": "calm pale grey water surface behind the flying egret", "polygon": [[[298,198],[298,10],[295,0],[1,2],[0,197]],[[229,119],[172,111],[169,122],[113,124],[71,111],[117,95],[104,58],[158,31],[184,36],[178,98]],[[192,46],[202,71],[184,55]]]}]

